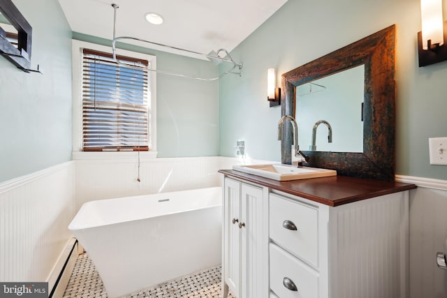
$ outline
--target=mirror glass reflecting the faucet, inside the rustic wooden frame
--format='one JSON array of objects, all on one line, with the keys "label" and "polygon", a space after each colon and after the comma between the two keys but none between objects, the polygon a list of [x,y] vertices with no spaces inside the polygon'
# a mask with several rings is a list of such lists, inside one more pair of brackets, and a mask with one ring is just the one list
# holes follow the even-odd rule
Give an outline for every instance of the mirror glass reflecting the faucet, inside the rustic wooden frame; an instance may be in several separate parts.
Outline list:
[{"label": "mirror glass reflecting the faucet, inside the rustic wooden frame", "polygon": [[301,150],[363,152],[364,82],[362,64],[295,88]]}]

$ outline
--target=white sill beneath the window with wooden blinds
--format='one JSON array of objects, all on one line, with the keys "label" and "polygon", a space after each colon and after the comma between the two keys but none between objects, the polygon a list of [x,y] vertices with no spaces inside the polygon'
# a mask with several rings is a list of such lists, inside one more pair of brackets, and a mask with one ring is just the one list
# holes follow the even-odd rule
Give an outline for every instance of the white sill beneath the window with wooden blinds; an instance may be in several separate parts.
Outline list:
[{"label": "white sill beneath the window with wooden blinds", "polygon": [[118,160],[135,161],[140,152],[140,159],[156,158],[156,151],[73,151],[73,161]]}]

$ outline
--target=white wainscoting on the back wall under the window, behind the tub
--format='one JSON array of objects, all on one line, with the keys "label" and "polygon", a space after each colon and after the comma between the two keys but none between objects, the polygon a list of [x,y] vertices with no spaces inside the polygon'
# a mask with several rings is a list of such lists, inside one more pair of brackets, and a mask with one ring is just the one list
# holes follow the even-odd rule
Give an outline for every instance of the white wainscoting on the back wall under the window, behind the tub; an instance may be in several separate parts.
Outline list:
[{"label": "white wainscoting on the back wall under the window, behind the tub", "polygon": [[219,156],[78,160],[75,210],[91,200],[220,186]]}]

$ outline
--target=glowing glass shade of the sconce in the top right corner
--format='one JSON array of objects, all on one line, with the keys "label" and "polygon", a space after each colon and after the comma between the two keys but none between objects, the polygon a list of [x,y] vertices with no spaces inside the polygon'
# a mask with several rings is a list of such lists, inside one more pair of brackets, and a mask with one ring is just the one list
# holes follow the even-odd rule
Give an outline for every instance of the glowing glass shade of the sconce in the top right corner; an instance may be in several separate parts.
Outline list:
[{"label": "glowing glass shade of the sconce in the top right corner", "polygon": [[420,16],[423,50],[430,50],[430,45],[443,45],[442,0],[420,0]]}]

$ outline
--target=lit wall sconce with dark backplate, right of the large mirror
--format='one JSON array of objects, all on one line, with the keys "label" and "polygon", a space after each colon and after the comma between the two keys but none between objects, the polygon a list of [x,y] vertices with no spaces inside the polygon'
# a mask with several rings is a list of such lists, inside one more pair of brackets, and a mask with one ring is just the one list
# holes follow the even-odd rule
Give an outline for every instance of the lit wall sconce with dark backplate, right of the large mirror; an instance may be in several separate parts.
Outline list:
[{"label": "lit wall sconce with dark backplate, right of the large mirror", "polygon": [[422,31],[418,32],[419,67],[447,60],[447,22],[442,0],[420,0]]}]

